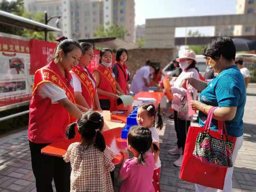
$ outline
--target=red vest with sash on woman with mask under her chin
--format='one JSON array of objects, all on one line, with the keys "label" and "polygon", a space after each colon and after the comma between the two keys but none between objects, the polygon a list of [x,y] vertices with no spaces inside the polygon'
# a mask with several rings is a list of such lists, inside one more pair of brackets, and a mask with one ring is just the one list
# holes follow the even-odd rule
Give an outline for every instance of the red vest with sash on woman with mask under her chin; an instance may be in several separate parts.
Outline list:
[{"label": "red vest with sash on woman with mask under her chin", "polygon": [[[111,92],[116,94],[116,79],[112,76],[112,69],[107,68],[103,65],[98,65],[98,67],[95,69],[95,71],[98,71],[100,74],[100,84],[98,88],[102,89],[106,92]],[[111,100],[108,96],[105,95],[99,95],[99,99],[108,99],[110,101],[110,111],[113,111],[117,107],[116,100]]]}]

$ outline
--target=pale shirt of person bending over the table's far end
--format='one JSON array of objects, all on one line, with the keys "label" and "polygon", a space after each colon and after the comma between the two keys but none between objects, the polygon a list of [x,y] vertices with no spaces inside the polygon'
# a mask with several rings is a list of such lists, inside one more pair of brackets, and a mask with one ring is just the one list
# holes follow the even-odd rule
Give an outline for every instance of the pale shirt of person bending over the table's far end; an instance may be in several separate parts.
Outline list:
[{"label": "pale shirt of person bending over the table's far end", "polygon": [[132,79],[132,83],[130,86],[130,89],[134,94],[137,94],[140,91],[148,91],[148,87],[145,85],[143,78],[146,78],[149,81],[149,74],[149,66],[144,66],[137,71]]}]

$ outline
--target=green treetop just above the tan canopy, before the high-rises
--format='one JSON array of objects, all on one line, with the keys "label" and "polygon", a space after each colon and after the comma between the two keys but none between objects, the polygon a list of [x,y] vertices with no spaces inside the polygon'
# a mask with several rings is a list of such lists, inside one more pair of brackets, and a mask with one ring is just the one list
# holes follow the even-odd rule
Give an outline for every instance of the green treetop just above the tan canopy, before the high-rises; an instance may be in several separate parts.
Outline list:
[{"label": "green treetop just above the tan canopy, before the high-rises", "polygon": [[104,26],[101,25],[93,34],[94,37],[117,37],[123,40],[125,35],[129,35],[128,31],[125,30],[123,26],[118,26],[116,24],[108,28],[104,28]]}]

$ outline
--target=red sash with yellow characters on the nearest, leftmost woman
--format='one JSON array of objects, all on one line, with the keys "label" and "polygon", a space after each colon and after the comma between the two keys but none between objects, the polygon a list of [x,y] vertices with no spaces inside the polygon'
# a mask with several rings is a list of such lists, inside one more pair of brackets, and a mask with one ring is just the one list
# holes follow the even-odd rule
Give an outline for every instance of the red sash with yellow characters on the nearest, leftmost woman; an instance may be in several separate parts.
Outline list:
[{"label": "red sash with yellow characters on the nearest, leftmost woman", "polygon": [[[47,68],[41,68],[36,71],[32,95],[35,93],[38,85],[40,85],[43,82],[50,82],[50,83],[54,84],[55,86],[60,87],[61,89],[63,89],[65,91],[65,93],[68,97],[68,100],[70,100],[72,103],[76,104],[75,98],[74,98],[72,92],[67,87],[67,83],[63,82],[63,80],[60,78],[60,76],[57,75],[54,71],[47,69]],[[69,114],[68,114],[68,118],[69,118],[70,123],[73,123],[76,121]]]}]

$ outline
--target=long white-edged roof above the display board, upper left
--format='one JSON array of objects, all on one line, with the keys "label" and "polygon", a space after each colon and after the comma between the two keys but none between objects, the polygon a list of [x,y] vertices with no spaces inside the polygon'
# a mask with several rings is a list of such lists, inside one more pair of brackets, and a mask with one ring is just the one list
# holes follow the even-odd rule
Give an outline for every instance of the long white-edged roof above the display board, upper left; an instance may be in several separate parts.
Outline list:
[{"label": "long white-edged roof above the display board, upper left", "polygon": [[60,29],[39,23],[12,13],[0,11],[0,23],[10,25],[13,27],[27,28],[35,31],[57,31],[61,32]]}]

